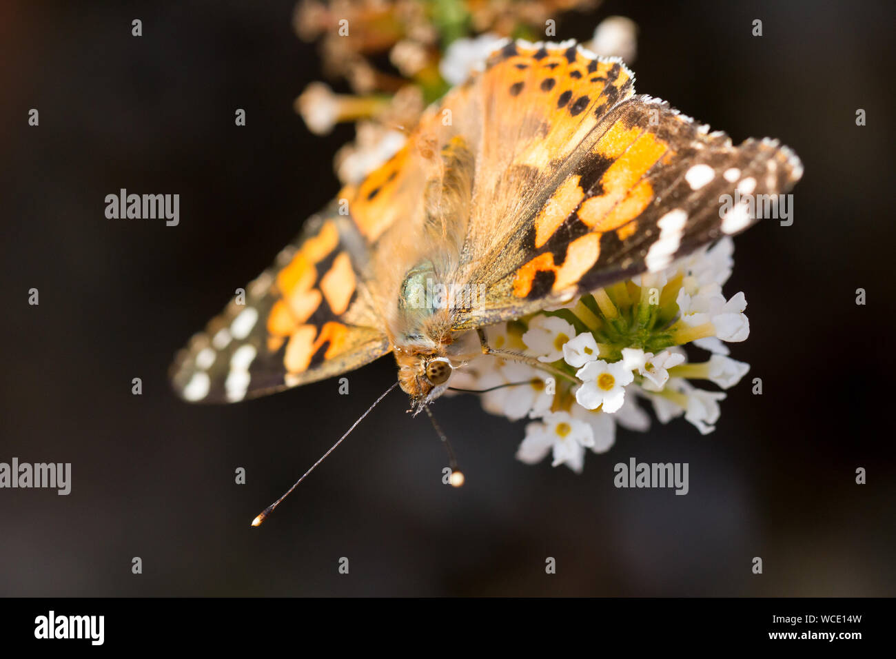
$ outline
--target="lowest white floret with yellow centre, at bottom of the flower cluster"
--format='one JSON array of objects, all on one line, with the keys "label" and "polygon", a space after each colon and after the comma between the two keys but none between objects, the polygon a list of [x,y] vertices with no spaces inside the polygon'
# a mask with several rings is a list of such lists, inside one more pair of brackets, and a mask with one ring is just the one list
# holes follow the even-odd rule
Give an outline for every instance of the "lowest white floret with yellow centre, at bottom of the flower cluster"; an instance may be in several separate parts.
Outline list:
[{"label": "lowest white floret with yellow centre, at bottom of the flower cluster", "polygon": [[591,426],[569,412],[550,412],[541,421],[526,426],[526,438],[522,440],[516,456],[522,462],[540,462],[553,449],[553,466],[566,464],[573,472],[581,472],[585,460],[585,447],[594,445]]}]

